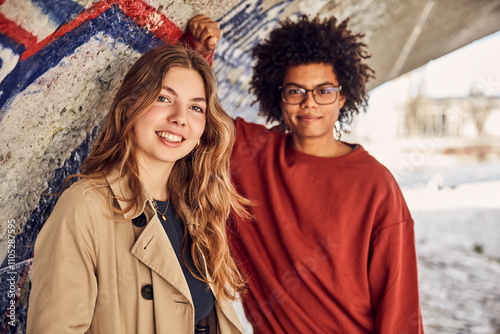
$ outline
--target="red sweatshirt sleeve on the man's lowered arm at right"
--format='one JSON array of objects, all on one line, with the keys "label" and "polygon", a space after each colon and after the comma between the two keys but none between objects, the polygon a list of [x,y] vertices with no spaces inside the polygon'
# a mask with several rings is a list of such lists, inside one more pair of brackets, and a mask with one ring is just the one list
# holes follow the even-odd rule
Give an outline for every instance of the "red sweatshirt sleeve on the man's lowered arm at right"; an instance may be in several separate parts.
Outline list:
[{"label": "red sweatshirt sleeve on the man's lowered arm at right", "polygon": [[371,251],[368,274],[375,333],[423,333],[413,221],[382,229]]}]

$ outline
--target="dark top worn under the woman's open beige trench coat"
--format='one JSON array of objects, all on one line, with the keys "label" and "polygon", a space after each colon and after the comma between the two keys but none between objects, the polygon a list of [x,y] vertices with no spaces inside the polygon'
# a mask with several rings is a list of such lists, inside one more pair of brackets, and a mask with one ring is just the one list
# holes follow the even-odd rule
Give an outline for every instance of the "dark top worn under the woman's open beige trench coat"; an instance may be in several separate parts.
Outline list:
[{"label": "dark top worn under the woman's open beige trench coat", "polygon": [[[158,205],[158,211],[165,212],[167,207],[166,202],[156,201]],[[182,260],[181,250],[182,250],[182,239],[184,238],[184,225],[181,220],[177,216],[175,209],[172,205],[168,206],[168,210],[165,213],[165,217],[167,218],[164,221],[161,217],[161,214],[157,212],[158,219],[160,219],[165,232],[167,233],[168,238],[170,239],[170,243],[174,248],[175,255],[177,255],[177,260],[179,260],[179,264],[181,265],[182,272],[184,273],[184,277],[186,278],[187,284],[189,286],[189,290],[191,291],[191,297],[193,298],[194,303],[194,318],[195,324],[198,323],[201,319],[205,318],[208,313],[212,310],[215,303],[215,297],[212,291],[209,289],[208,285],[205,282],[202,282],[196,279],[188,270],[184,261]],[[191,256],[191,244],[190,240],[188,241],[188,246],[186,248],[186,252],[184,253],[184,257],[186,262],[188,263],[191,270],[199,275],[198,270],[193,262],[193,257]]]}]

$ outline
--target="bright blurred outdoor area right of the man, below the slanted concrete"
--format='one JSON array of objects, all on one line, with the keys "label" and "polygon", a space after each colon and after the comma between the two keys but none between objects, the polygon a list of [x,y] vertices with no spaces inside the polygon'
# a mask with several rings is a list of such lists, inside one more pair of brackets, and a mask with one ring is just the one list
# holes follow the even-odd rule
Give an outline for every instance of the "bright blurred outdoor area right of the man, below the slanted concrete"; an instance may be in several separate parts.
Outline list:
[{"label": "bright blurred outdoor area right of the man, below the slanted concrete", "polygon": [[402,188],[426,333],[500,333],[500,33],[371,92],[346,141]]}]

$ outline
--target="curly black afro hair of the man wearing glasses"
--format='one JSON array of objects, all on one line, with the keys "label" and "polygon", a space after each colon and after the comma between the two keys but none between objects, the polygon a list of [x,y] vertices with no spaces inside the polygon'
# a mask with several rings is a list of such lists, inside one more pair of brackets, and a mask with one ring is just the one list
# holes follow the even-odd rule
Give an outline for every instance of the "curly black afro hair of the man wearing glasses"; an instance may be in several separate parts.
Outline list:
[{"label": "curly black afro hair of the man wearing glasses", "polygon": [[254,47],[252,56],[256,63],[250,91],[257,96],[260,115],[267,122],[284,124],[278,87],[288,67],[303,64],[333,66],[346,97],[339,114],[340,130],[346,131],[354,114],[366,111],[366,83],[374,78],[375,72],[363,62],[370,57],[366,44],[361,42],[364,34],[353,34],[347,29],[348,22],[346,19],[337,25],[335,17],[310,20],[306,15],[299,16],[297,22],[288,18],[280,22],[268,39]]}]

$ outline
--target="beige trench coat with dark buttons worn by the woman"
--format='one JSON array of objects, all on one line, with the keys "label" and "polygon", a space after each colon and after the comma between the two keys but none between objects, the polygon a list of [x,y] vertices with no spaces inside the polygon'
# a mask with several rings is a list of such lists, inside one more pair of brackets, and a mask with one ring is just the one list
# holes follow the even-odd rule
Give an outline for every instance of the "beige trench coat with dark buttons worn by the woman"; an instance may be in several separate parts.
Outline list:
[{"label": "beige trench coat with dark buttons worn by the woman", "polygon": [[[189,287],[152,199],[143,190],[142,208],[123,216],[110,195],[132,196],[114,174],[59,198],[35,244],[27,333],[193,334]],[[231,301],[216,312],[220,333],[243,332]]]}]

